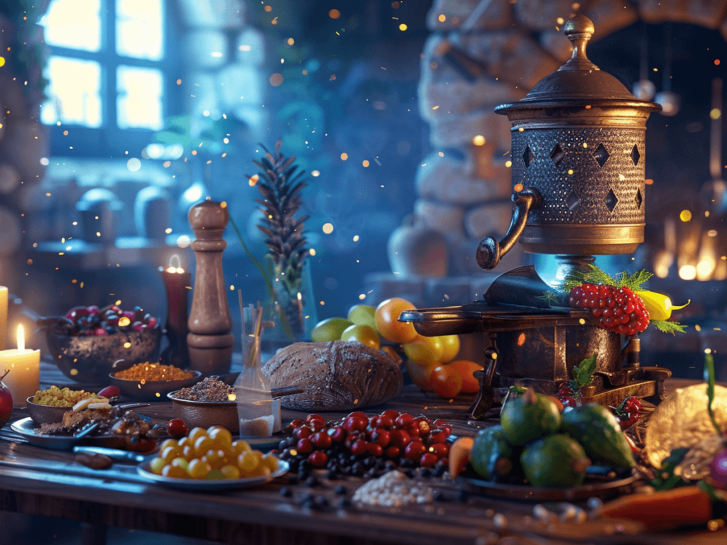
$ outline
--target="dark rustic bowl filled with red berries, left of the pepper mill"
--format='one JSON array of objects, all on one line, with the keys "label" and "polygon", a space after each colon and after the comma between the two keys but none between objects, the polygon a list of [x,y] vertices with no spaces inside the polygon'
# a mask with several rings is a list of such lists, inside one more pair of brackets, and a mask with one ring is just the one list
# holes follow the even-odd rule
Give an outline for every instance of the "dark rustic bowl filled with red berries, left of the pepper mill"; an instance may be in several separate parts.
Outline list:
[{"label": "dark rustic bowl filled with red berries, left of the pepper mill", "polygon": [[40,318],[38,325],[53,361],[76,382],[105,384],[110,373],[158,359],[159,321],[140,307],[73,307],[65,316]]}]

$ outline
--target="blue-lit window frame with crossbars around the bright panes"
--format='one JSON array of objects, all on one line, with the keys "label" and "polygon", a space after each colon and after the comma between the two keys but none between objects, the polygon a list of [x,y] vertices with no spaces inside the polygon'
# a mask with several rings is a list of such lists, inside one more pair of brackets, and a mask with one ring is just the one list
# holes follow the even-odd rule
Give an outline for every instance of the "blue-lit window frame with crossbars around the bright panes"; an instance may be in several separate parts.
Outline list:
[{"label": "blue-lit window frame with crossbars around the bright panes", "polygon": [[[101,126],[98,128],[62,123],[45,125],[50,129],[50,153],[68,157],[119,157],[125,152],[140,153],[153,141],[151,129],[120,129],[117,124],[116,70],[120,65],[154,68],[162,78],[162,119],[182,111],[182,89],[175,83],[181,78],[182,62],[178,52],[180,13],[174,2],[162,1],[164,9],[164,55],[161,60],[134,59],[116,52],[116,0],[101,0],[101,47],[97,52],[47,45],[50,56],[91,60],[101,68]],[[68,134],[63,134],[68,131]]]}]

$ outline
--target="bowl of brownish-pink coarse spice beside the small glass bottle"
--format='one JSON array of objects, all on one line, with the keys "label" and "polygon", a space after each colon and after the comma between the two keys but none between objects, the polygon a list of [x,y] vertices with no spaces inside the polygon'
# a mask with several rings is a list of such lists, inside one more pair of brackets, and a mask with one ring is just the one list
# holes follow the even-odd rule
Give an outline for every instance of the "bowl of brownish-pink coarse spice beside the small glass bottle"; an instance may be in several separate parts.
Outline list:
[{"label": "bowl of brownish-pink coarse spice beside the small glass bottle", "polygon": [[208,376],[191,387],[170,392],[166,397],[172,400],[174,418],[182,419],[190,429],[222,426],[231,433],[240,430],[235,387],[217,376]]}]

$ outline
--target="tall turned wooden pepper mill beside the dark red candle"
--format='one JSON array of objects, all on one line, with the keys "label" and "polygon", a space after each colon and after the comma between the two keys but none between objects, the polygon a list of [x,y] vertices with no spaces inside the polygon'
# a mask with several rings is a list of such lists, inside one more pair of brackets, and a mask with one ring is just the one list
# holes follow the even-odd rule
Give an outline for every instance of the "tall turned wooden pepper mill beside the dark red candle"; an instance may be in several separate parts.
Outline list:
[{"label": "tall turned wooden pepper mill beside the dark red candle", "polygon": [[232,318],[222,276],[222,251],[227,247],[222,233],[230,214],[224,204],[207,199],[189,211],[189,223],[197,237],[191,244],[197,268],[187,344],[190,367],[203,376],[230,372],[235,342],[230,334]]}]

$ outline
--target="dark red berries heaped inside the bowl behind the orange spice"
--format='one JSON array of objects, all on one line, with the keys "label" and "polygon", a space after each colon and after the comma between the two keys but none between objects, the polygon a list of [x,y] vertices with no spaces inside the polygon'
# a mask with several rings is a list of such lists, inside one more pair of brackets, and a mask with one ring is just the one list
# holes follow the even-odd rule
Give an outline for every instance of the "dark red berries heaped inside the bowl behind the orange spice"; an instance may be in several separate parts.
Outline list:
[{"label": "dark red berries heaped inside the bowl behind the orange spice", "polygon": [[134,310],[121,310],[116,304],[108,307],[73,307],[65,313],[65,318],[73,322],[72,335],[111,335],[121,331],[144,331],[156,327],[156,318],[145,314],[141,307]]}]

